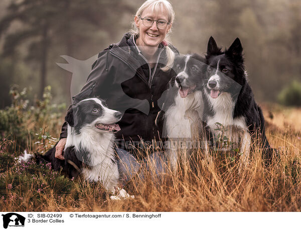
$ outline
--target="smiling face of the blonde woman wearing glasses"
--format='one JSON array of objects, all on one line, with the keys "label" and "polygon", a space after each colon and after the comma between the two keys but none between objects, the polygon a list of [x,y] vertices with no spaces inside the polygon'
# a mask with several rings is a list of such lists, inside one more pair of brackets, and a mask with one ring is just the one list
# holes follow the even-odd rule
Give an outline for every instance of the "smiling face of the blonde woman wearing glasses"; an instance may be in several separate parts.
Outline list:
[{"label": "smiling face of the blonde woman wearing glasses", "polygon": [[[165,7],[160,8],[158,12],[154,12],[151,7],[148,7],[140,16],[141,18],[149,18],[157,21],[165,20],[169,22],[168,11]],[[167,25],[165,29],[158,29],[156,22],[154,22],[151,27],[146,27],[143,25],[142,20],[139,17],[135,17],[134,20],[137,28],[139,29],[139,37],[136,40],[136,44],[138,46],[158,47],[165,39],[167,32],[171,28],[171,25]]]}]

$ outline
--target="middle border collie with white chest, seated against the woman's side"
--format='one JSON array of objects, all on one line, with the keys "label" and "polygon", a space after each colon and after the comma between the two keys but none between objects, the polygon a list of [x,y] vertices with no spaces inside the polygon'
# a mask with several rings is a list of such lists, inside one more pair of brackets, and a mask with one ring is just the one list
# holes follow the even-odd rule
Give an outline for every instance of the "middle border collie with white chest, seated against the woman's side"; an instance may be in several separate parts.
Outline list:
[{"label": "middle border collie with white chest, seated against the woman's side", "polygon": [[[174,71],[177,76],[171,80],[168,101],[164,107],[165,137],[169,144],[166,155],[172,170],[177,169],[178,149],[199,142],[203,130],[203,77],[205,59],[198,54],[180,55],[175,58]],[[200,142],[199,142],[200,143]],[[187,146],[193,145],[193,146]],[[202,144],[202,143],[201,143]],[[200,147],[199,147],[200,148]]]}]

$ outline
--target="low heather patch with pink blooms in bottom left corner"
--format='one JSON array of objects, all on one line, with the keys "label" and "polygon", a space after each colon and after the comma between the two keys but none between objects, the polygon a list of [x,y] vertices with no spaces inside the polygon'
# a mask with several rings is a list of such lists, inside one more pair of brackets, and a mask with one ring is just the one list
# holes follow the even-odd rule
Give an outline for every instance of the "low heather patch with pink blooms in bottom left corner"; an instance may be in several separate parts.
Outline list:
[{"label": "low heather patch with pink blooms in bottom left corner", "polygon": [[[1,158],[4,156],[1,154]],[[15,159],[13,167],[0,174],[0,203],[13,201],[27,208],[23,201],[31,201],[36,206],[47,202],[48,194],[55,194],[53,198],[59,199],[74,188],[74,180],[51,170],[50,163],[35,160],[18,162]],[[26,196],[30,197],[24,200]]]}]

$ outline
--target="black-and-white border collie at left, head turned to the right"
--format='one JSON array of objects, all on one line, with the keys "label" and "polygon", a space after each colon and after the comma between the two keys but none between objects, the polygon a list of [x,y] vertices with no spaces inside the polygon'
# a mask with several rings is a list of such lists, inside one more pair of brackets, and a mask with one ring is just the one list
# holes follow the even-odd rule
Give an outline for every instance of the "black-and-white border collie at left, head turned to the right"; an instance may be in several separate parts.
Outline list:
[{"label": "black-and-white border collie at left, head turned to the right", "polygon": [[88,98],[72,106],[65,117],[68,136],[64,149],[65,160],[55,158],[55,147],[42,158],[51,162],[52,169],[70,178],[82,176],[89,182],[102,182],[114,195],[111,199],[133,197],[117,187],[119,171],[114,153],[114,133],[121,112],[107,108],[99,98]]}]

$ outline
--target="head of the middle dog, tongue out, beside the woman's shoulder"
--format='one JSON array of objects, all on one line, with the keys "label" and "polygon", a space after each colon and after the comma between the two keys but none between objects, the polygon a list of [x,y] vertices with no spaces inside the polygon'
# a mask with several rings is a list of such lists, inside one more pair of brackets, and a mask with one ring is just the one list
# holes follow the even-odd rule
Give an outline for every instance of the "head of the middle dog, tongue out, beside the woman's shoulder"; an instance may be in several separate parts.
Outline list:
[{"label": "head of the middle dog, tongue out, beside the woman's shoulder", "polygon": [[198,54],[179,55],[175,58],[175,85],[182,98],[201,90],[204,78],[205,59]]}]

